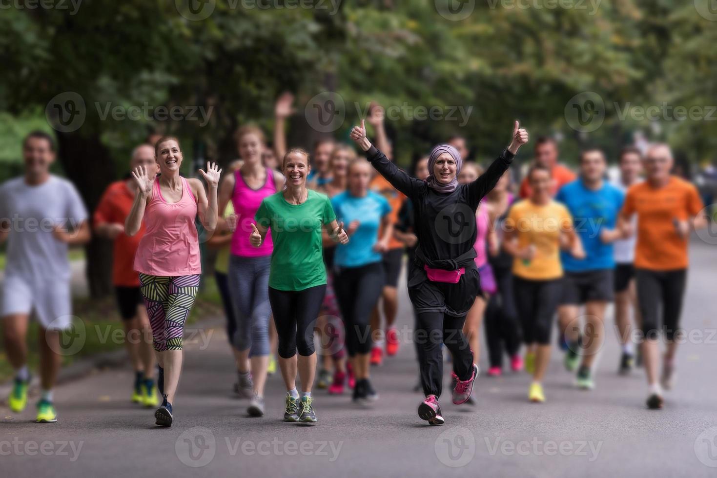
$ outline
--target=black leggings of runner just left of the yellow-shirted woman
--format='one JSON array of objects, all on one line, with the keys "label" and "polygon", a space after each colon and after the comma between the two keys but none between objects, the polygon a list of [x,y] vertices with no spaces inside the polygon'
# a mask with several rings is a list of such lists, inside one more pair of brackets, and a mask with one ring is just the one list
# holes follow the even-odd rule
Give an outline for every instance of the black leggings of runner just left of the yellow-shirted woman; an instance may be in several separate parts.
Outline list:
[{"label": "black leggings of runner just left of the yellow-shirted woman", "polygon": [[503,366],[503,345],[511,357],[521,347],[521,325],[513,294],[511,269],[493,268],[498,293],[490,296],[485,307],[485,343],[491,367]]}]

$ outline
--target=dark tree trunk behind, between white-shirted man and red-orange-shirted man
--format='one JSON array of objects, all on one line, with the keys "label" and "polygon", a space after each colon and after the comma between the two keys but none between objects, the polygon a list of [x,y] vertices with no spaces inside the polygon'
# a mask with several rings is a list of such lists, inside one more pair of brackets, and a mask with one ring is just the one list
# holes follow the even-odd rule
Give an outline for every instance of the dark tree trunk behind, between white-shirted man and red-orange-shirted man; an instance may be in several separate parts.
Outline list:
[{"label": "dark tree trunk behind, between white-shirted man and red-orange-shirted man", "polygon": [[[105,188],[115,179],[115,167],[109,151],[98,136],[85,138],[75,133],[57,133],[58,158],[67,178],[75,183],[92,217]],[[92,221],[90,221],[92,224]],[[94,234],[85,246],[85,276],[93,299],[112,290],[112,242]]]}]

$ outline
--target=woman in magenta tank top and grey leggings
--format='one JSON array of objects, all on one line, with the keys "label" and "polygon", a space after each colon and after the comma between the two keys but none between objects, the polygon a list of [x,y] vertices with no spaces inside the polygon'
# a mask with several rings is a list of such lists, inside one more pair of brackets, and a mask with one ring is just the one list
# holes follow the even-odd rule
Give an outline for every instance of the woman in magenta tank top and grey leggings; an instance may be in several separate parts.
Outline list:
[{"label": "woman in magenta tank top and grey leggings", "polygon": [[[269,271],[274,249],[271,236],[260,247],[253,247],[249,236],[254,215],[262,200],[284,185],[284,176],[262,165],[264,135],[259,128],[246,126],[236,134],[242,167],[222,180],[219,209],[229,201],[234,206],[236,224],[232,235],[231,257],[227,274],[229,295],[234,308],[234,324],[229,343],[236,358],[239,380],[235,390],[249,398],[247,413],[264,414],[264,384],[271,349],[269,346]],[[251,373],[250,373],[251,371]]]}]

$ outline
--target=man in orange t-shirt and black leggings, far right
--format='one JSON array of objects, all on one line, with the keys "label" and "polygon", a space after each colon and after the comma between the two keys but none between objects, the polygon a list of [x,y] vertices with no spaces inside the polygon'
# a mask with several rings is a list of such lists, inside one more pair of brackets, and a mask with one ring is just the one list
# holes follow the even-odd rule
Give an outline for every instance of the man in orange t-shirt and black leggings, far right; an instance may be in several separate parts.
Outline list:
[{"label": "man in orange t-shirt and black leggings, far right", "polygon": [[[625,234],[630,234],[630,220],[637,214],[635,279],[644,334],[642,358],[650,387],[647,406],[650,408],[663,408],[662,388],[670,389],[673,386],[677,351],[674,338],[679,337],[690,229],[706,226],[697,188],[670,174],[673,162],[668,145],[655,144],[647,150],[643,160],[647,178],[627,190],[619,220],[619,228]],[[667,351],[658,383],[660,305]]]}]

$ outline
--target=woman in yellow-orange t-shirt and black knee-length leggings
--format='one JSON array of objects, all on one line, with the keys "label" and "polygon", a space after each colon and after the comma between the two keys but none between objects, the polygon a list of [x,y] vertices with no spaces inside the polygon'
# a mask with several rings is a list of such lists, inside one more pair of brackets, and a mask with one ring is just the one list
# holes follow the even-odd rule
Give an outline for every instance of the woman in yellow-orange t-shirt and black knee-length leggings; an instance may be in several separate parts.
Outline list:
[{"label": "woman in yellow-orange t-shirt and black knee-length leggings", "polygon": [[543,386],[550,360],[553,316],[561,292],[563,268],[560,249],[576,258],[585,253],[565,206],[551,198],[552,178],[548,168],[528,171],[531,195],[511,207],[505,220],[503,249],[513,259],[513,281],[523,340],[528,346],[526,371],[533,374],[528,398],[545,401]]}]

